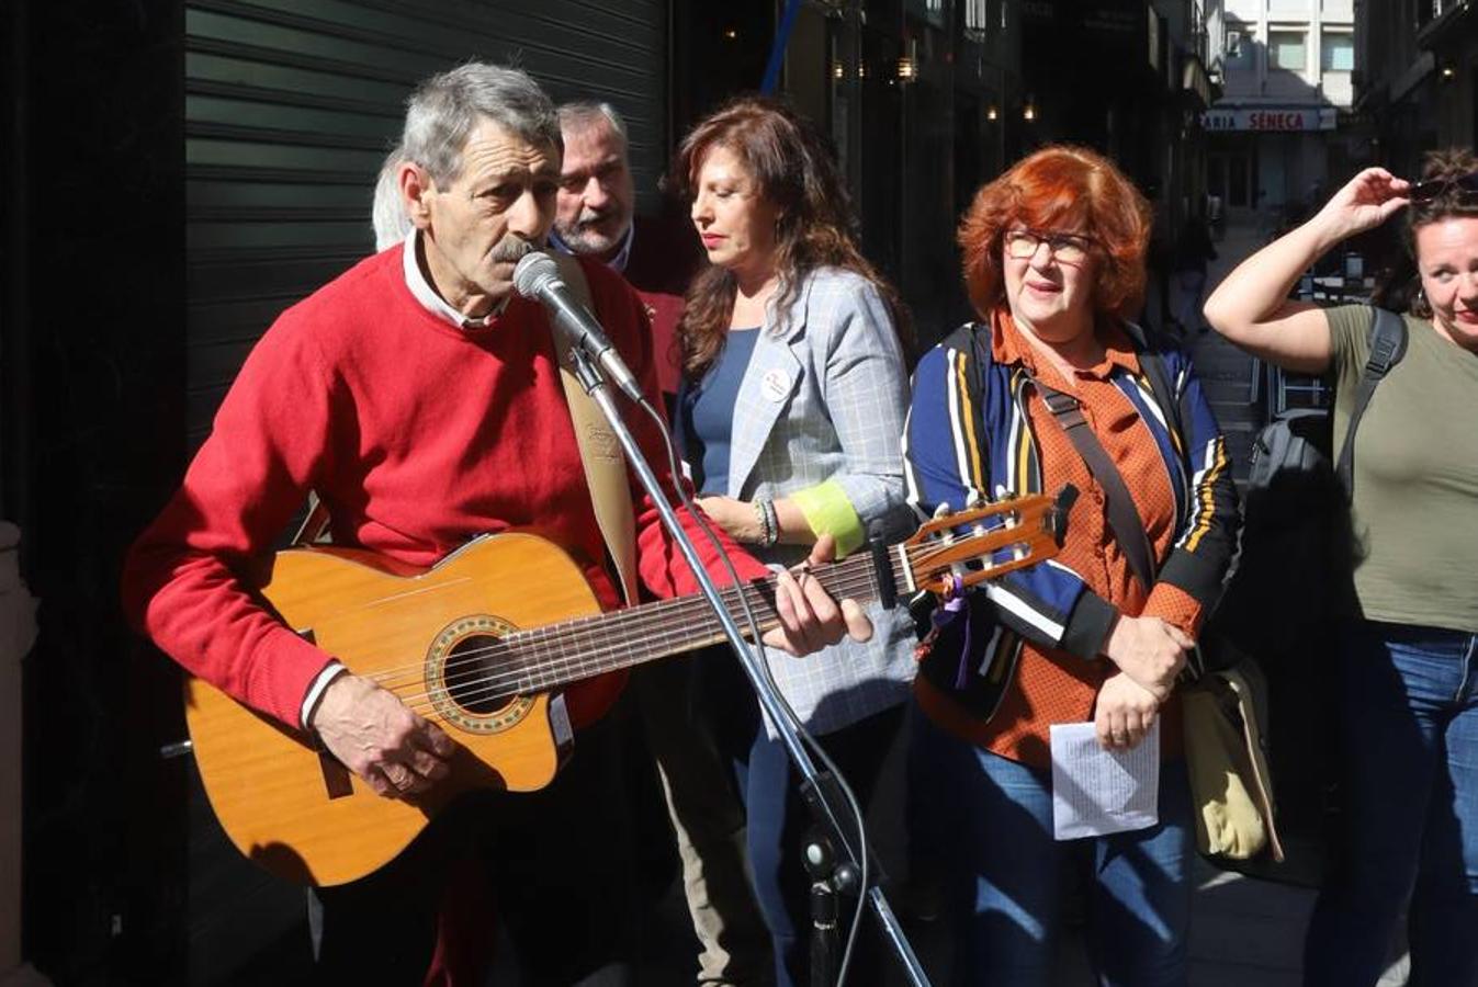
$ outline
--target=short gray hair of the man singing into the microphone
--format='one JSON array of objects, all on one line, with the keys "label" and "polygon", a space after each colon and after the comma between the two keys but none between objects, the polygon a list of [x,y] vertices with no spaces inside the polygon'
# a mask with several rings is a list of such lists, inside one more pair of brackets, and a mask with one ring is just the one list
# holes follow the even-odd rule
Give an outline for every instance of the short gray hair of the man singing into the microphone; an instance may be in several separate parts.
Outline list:
[{"label": "short gray hair of the man singing into the microphone", "polygon": [[482,120],[529,143],[565,148],[554,103],[528,72],[469,62],[432,75],[411,93],[401,149],[445,186],[461,174],[463,145]]}]

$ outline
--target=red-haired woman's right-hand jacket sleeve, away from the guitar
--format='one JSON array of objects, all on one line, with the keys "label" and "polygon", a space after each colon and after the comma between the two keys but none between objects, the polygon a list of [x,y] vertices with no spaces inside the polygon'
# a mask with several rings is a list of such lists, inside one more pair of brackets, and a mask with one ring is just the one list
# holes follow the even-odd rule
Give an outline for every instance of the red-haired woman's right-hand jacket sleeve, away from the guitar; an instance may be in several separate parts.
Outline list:
[{"label": "red-haired woman's right-hand jacket sleeve, away from the guitar", "polygon": [[1188,505],[1159,582],[1210,609],[1237,547],[1237,488],[1227,440],[1188,361],[1179,361],[1175,384],[1190,467]]}]

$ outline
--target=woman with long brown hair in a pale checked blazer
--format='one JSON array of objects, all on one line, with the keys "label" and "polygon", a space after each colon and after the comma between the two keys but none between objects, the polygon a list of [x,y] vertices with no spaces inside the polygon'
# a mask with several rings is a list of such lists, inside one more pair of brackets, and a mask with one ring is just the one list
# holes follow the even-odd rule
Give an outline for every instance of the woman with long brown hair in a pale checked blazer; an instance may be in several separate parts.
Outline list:
[{"label": "woman with long brown hair in a pale checked blazer", "polygon": [[[845,554],[869,535],[906,532],[906,316],[857,248],[823,140],[783,103],[739,99],[687,134],[674,174],[711,264],[689,290],[677,332],[677,424],[704,510],[780,564],[800,561],[822,535]],[[780,691],[863,805],[913,675],[906,613],[869,616],[866,644],[806,662],[770,656]],[[712,712],[729,714],[720,733],[746,765],[748,848],[777,981],[804,981],[807,811],[733,663],[706,660],[701,675],[711,696],[723,694]]]}]

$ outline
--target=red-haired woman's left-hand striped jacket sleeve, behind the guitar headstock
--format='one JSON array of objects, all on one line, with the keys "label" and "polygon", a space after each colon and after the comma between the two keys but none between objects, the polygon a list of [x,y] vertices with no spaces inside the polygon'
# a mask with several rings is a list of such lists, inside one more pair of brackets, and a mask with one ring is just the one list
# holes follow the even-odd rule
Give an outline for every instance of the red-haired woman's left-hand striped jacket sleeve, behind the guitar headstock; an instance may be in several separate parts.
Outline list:
[{"label": "red-haired woman's left-hand striped jacket sleeve, behind the guitar headstock", "polygon": [[[913,400],[905,424],[903,458],[909,505],[928,520],[943,505],[964,510],[995,499],[1005,488],[990,485],[990,434],[1018,434],[1011,400],[984,405],[973,387],[970,349],[946,340],[930,350],[913,372]],[[1007,440],[1007,445],[1009,442]],[[1009,471],[1009,470],[1007,470]],[[1024,477],[1017,477],[1023,485]],[[1001,522],[992,519],[992,526]],[[1097,658],[1117,610],[1088,590],[1082,578],[1054,560],[1018,569],[983,585],[973,597],[996,619],[1041,647]]]}]

